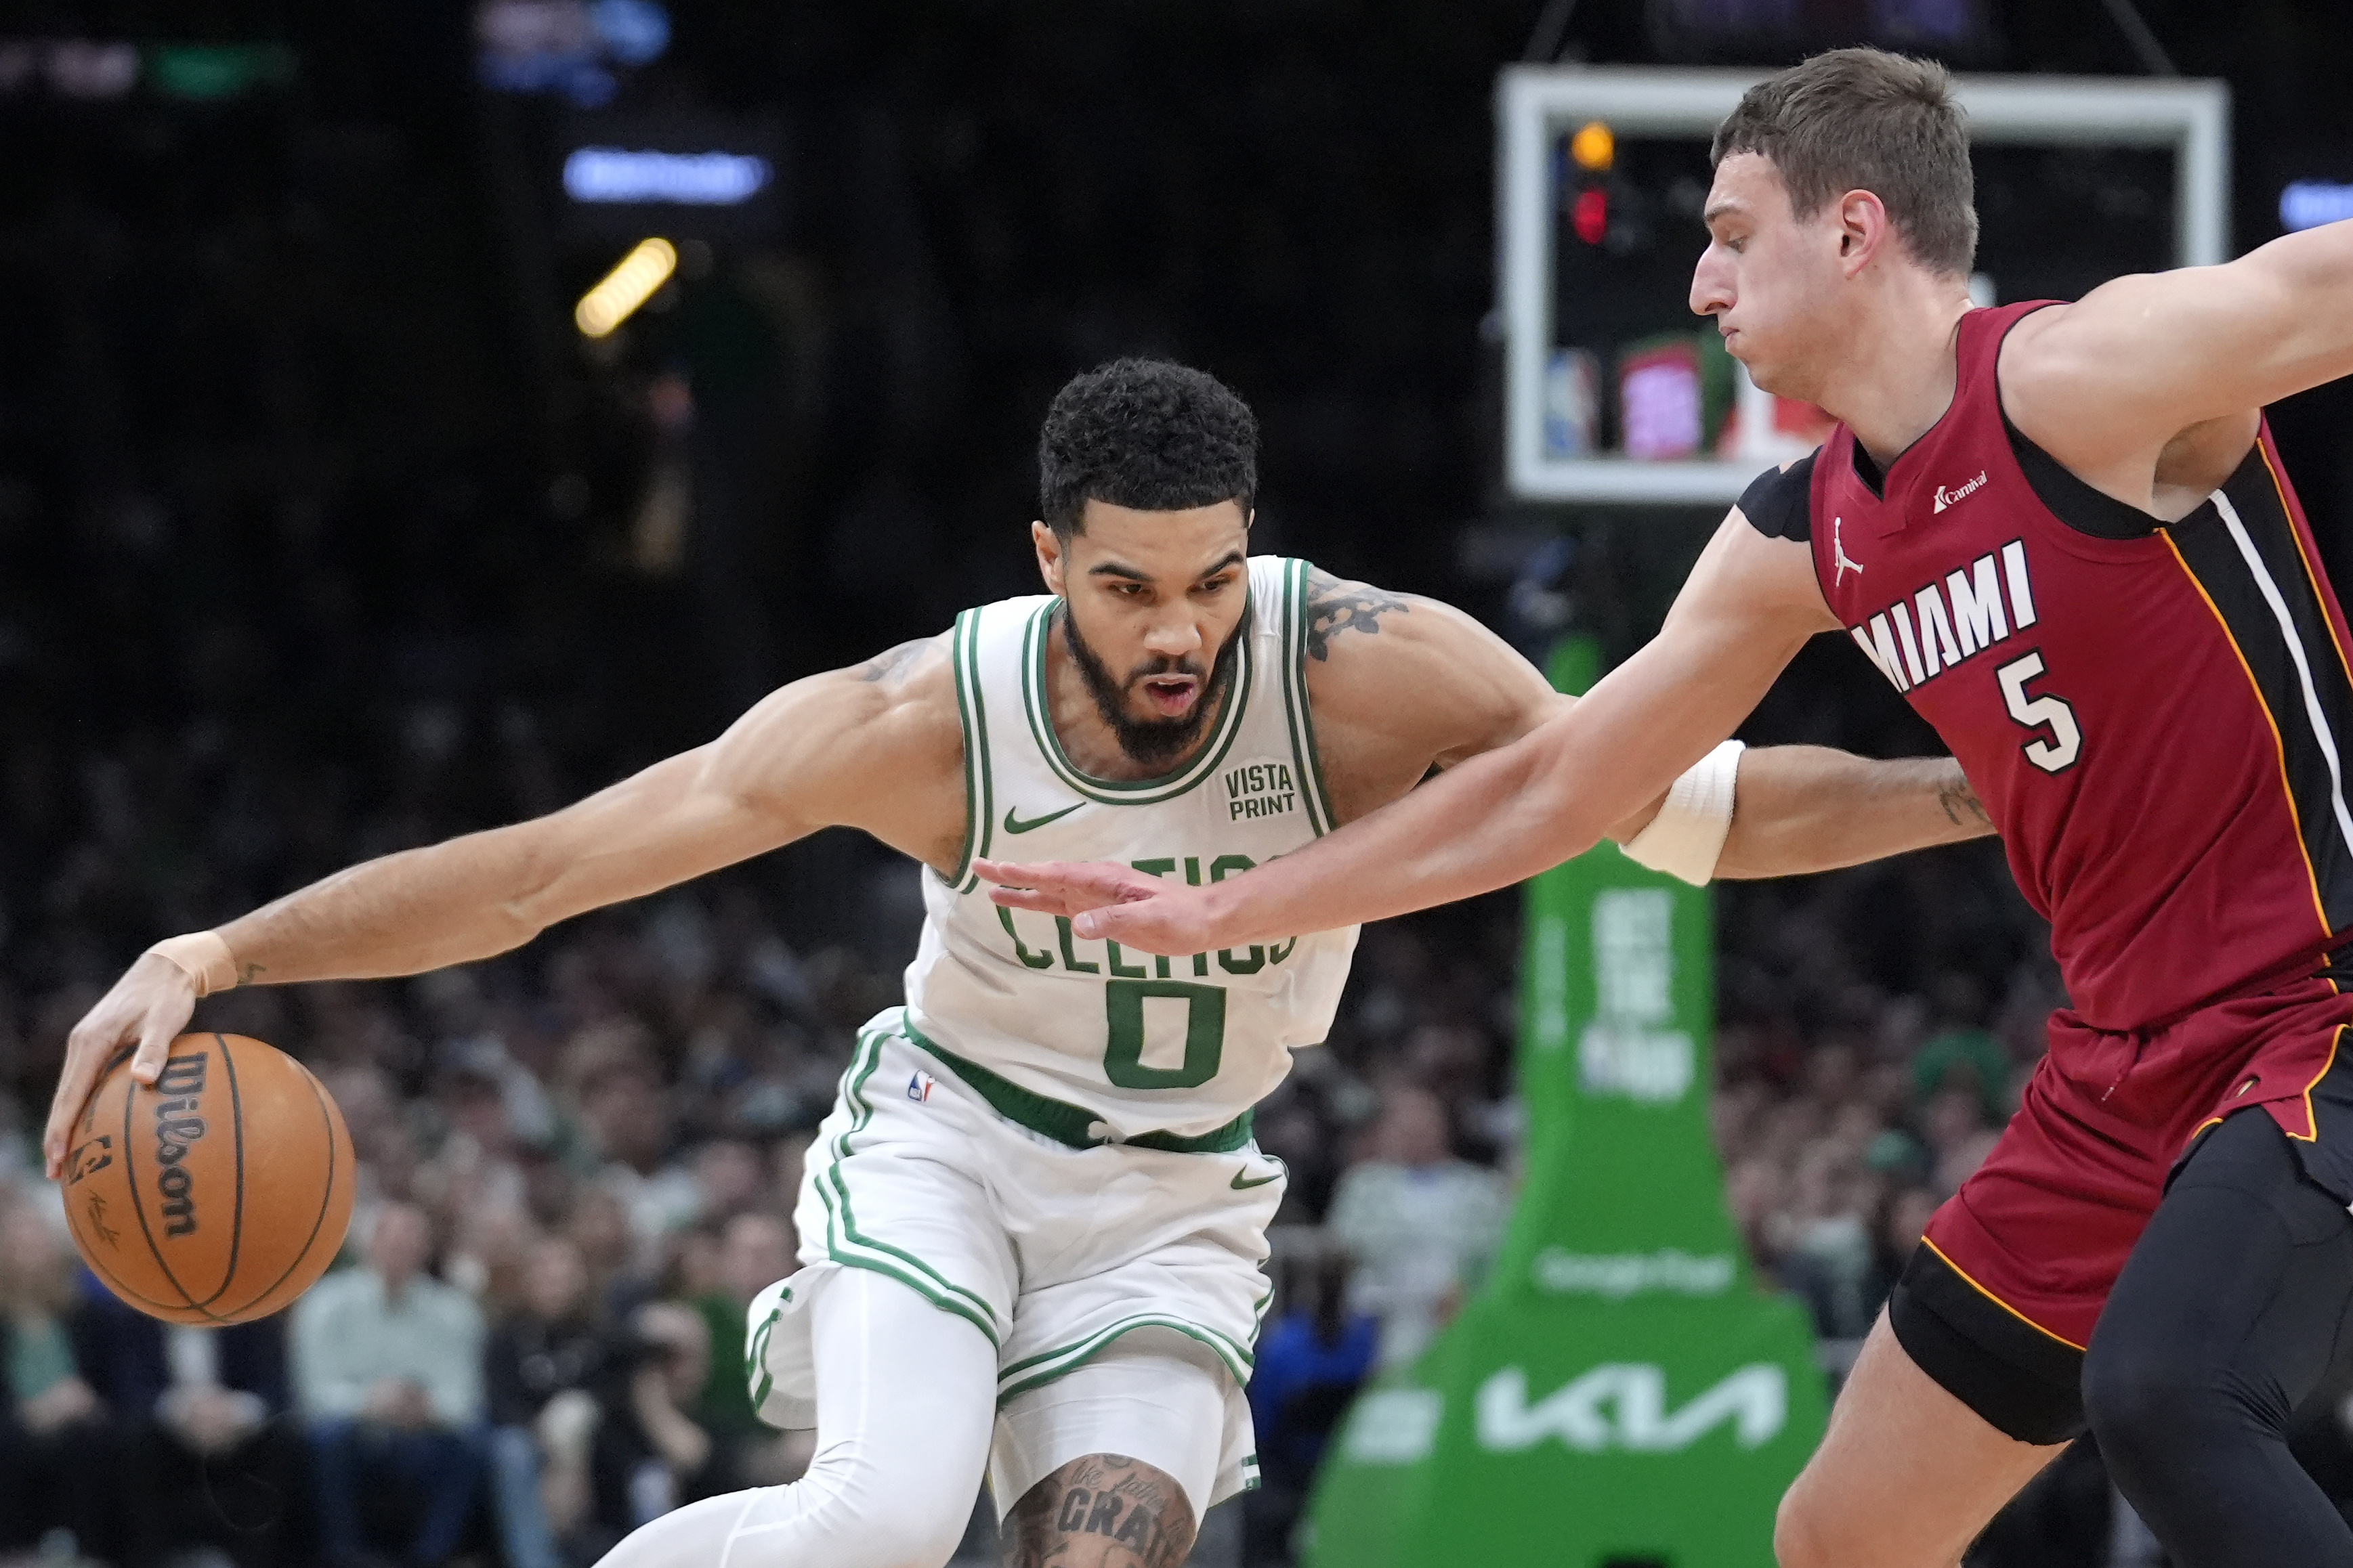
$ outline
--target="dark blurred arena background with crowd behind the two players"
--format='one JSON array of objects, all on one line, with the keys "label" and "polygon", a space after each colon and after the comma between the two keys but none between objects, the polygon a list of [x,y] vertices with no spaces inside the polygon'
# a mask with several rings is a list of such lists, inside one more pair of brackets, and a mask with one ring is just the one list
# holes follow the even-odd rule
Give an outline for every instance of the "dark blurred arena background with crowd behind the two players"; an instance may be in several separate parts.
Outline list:
[{"label": "dark blurred arena background with crowd behind the two players", "polygon": [[[800,1474],[807,1436],[746,1401],[744,1305],[791,1272],[802,1152],[899,997],[899,856],[826,832],[489,964],[202,1004],[341,1105],[344,1267],[414,1241],[466,1307],[416,1371],[445,1415],[358,1474],[348,1347],[301,1307],[195,1349],[80,1269],[38,1147],[66,1032],[162,936],[551,811],[1033,592],[1038,423],[1118,355],[1252,402],[1257,550],[1449,599],[1539,663],[1624,658],[1722,501],[1506,480],[1499,73],[1753,78],[1847,42],[2217,80],[2224,254],[2353,214],[2329,0],[0,9],[0,1561],[294,1568],[322,1521],[393,1561],[445,1507],[435,1561],[586,1566]],[[1699,327],[1661,315],[1704,244],[1689,165],[1626,139],[1607,179],[1555,172],[1562,322],[1602,364]],[[2002,299],[2167,266],[2174,200],[2160,153],[1988,153],[1981,266]],[[2353,393],[2271,418],[2344,581]],[[1833,637],[1741,736],[1941,750]],[[1835,1389],[2064,994],[1993,842],[1713,900],[1741,1269],[1802,1305]],[[1367,929],[1329,1044],[1259,1110],[1292,1173],[1266,1486],[1191,1561],[1329,1566],[1304,1521],[1348,1396],[1485,1286],[1529,1126],[1520,926],[1497,893]],[[1400,1171],[1442,1199],[1398,1201]],[[2348,1396],[2353,1368],[2299,1458],[2353,1507]],[[520,1497],[553,1554],[518,1544]],[[958,1563],[998,1561],[991,1521]],[[1967,1561],[2160,1559],[2078,1446]]]}]

